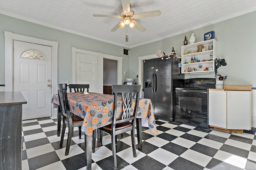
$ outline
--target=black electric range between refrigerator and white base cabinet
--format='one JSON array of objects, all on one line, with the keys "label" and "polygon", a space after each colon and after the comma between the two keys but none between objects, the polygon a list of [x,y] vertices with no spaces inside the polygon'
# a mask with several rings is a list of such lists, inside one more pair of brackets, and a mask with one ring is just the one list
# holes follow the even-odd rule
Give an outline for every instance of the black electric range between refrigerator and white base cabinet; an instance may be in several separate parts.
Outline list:
[{"label": "black electric range between refrigerator and white base cabinet", "polygon": [[184,88],[175,88],[174,121],[208,129],[209,88],[215,78],[190,78]]}]

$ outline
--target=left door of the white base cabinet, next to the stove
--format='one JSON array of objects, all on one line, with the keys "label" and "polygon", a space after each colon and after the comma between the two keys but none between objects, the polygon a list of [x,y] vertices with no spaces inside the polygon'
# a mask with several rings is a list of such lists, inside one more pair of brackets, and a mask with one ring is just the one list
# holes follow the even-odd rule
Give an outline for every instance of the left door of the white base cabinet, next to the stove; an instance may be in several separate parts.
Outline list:
[{"label": "left door of the white base cabinet, next to the stove", "polygon": [[227,128],[226,91],[209,91],[209,125]]}]

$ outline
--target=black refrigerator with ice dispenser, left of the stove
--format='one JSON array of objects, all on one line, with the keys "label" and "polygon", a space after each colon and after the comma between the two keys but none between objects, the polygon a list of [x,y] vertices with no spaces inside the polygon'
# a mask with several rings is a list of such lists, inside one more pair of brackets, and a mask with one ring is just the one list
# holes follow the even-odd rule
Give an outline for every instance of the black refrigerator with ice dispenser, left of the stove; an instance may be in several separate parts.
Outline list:
[{"label": "black refrigerator with ice dispenser, left of the stove", "polygon": [[174,90],[184,86],[178,63],[173,57],[144,60],[144,98],[151,99],[156,119],[174,121]]}]

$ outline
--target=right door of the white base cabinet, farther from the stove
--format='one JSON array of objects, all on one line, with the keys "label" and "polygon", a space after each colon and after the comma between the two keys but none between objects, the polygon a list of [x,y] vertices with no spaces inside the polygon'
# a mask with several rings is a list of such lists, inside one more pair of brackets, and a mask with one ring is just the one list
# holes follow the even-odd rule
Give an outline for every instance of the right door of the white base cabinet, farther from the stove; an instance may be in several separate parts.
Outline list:
[{"label": "right door of the white base cabinet, farther from the stove", "polygon": [[228,129],[250,129],[250,92],[227,91]]}]

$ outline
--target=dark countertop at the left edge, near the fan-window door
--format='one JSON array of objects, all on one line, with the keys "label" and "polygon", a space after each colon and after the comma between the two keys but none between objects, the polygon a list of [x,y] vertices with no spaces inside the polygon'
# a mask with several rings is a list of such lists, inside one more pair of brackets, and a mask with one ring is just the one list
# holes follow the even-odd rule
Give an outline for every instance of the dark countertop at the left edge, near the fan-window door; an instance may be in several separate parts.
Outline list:
[{"label": "dark countertop at the left edge, near the fan-window door", "polygon": [[21,92],[0,92],[0,106],[26,104]]}]

